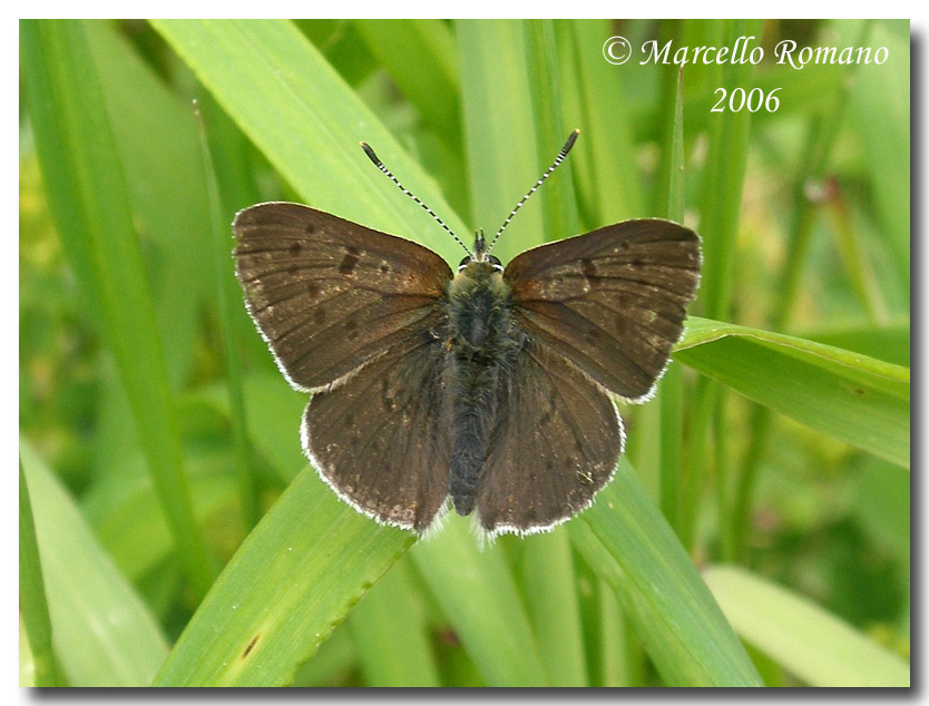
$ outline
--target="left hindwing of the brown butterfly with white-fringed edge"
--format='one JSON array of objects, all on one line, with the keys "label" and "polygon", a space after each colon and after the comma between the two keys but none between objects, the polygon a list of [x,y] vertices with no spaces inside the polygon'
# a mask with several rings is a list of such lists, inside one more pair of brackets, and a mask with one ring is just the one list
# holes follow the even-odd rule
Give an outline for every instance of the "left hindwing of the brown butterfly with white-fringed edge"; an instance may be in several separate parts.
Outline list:
[{"label": "left hindwing of the brown butterfly with white-fringed edge", "polygon": [[301,435],[323,479],[377,520],[427,530],[449,488],[444,351],[428,332],[313,395]]}]

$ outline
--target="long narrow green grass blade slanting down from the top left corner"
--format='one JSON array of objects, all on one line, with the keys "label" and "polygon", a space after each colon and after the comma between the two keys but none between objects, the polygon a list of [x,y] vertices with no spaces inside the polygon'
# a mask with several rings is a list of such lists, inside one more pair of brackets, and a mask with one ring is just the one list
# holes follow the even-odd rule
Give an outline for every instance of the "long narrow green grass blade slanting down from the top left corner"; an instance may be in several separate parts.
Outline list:
[{"label": "long narrow green grass blade slanting down from the top left corner", "polygon": [[154,307],[84,24],[21,28],[36,147],[62,248],[116,360],[180,562],[203,595],[211,562],[190,508]]}]

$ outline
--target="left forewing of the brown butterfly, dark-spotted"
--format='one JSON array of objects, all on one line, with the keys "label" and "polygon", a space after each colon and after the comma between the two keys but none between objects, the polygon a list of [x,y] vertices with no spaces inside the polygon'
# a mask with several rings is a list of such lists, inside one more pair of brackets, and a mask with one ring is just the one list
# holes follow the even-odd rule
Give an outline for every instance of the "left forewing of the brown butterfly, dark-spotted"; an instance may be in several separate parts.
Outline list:
[{"label": "left forewing of the brown butterfly, dark-spotted", "polygon": [[258,204],[233,224],[236,274],[278,367],[321,390],[441,321],[451,278],[431,251],[300,204]]}]

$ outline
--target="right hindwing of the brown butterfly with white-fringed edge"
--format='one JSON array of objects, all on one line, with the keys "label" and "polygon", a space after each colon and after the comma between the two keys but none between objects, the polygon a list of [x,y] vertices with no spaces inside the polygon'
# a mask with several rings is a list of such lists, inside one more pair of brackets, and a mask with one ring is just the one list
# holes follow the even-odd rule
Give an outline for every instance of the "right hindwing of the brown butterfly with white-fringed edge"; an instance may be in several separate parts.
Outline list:
[{"label": "right hindwing of the brown butterfly with white-fringed edge", "polygon": [[623,422],[600,388],[532,341],[501,384],[479,521],[490,536],[527,535],[590,504],[623,452]]}]

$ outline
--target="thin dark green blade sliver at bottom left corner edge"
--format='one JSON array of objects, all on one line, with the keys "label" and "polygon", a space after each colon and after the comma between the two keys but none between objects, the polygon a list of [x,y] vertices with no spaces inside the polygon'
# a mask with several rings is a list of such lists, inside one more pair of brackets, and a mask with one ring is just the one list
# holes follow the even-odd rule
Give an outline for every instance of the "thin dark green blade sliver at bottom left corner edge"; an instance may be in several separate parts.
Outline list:
[{"label": "thin dark green blade sliver at bottom left corner edge", "polygon": [[[58,663],[51,645],[51,620],[48,616],[42,566],[39,560],[39,545],[36,541],[36,523],[32,519],[32,503],[22,461],[19,462],[19,611],[29,641],[35,665],[35,680],[31,686],[62,686]],[[20,650],[25,650],[21,645]],[[20,686],[26,686],[20,684]]]}]

